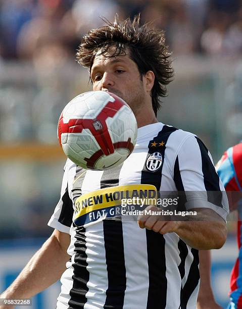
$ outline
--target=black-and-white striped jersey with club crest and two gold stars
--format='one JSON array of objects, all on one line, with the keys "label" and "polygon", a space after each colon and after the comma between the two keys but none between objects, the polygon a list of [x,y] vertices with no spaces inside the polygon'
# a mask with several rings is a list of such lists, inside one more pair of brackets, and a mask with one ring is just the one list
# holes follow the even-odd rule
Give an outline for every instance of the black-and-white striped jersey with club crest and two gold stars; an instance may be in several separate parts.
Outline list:
[{"label": "black-and-white striped jersey with club crest and two gold stars", "polygon": [[[128,192],[127,186],[224,190],[203,142],[162,123],[139,128],[133,152],[114,169],[84,170],[67,160],[61,198],[49,222],[71,235],[58,309],[196,308],[198,250],[176,233],[140,229],[117,213],[112,218],[113,197]],[[211,208],[226,220],[222,194],[216,204],[203,195],[196,207]]]}]

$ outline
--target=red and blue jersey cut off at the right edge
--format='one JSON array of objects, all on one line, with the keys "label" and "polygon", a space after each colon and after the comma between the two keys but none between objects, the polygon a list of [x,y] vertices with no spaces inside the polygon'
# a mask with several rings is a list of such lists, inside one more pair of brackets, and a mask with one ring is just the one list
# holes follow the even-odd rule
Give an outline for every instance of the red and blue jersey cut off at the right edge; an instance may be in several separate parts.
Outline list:
[{"label": "red and blue jersey cut off at the right edge", "polygon": [[[217,172],[226,191],[242,192],[242,142],[226,150],[218,163]],[[230,278],[230,299],[233,308],[242,308],[242,213],[238,208],[237,244],[239,256],[233,267]]]}]

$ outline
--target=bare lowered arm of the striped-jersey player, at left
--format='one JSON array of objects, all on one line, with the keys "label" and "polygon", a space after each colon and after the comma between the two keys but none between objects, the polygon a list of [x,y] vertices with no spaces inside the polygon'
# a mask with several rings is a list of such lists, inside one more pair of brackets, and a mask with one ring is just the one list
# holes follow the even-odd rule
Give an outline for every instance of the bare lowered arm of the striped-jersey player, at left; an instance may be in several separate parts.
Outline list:
[{"label": "bare lowered arm of the striped-jersey player, at left", "polygon": [[55,230],[0,298],[30,298],[59,280],[70,258],[69,244],[70,235]]}]

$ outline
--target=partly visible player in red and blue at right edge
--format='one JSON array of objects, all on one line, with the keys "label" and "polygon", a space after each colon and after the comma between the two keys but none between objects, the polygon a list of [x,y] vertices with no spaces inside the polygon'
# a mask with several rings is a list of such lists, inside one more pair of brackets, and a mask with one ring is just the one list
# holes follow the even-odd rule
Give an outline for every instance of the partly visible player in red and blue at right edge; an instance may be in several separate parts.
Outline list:
[{"label": "partly visible player in red and blue at right edge", "polygon": [[[230,302],[227,309],[242,309],[242,284],[241,284],[241,199],[242,194],[242,142],[227,149],[216,165],[218,175],[222,180],[225,190],[230,195],[230,211],[238,210],[237,244],[239,255],[231,272]],[[238,194],[234,194],[237,192]],[[201,283],[198,297],[198,309],[213,308],[215,301],[210,283],[210,251],[200,252]],[[206,304],[206,306],[204,306]]]}]

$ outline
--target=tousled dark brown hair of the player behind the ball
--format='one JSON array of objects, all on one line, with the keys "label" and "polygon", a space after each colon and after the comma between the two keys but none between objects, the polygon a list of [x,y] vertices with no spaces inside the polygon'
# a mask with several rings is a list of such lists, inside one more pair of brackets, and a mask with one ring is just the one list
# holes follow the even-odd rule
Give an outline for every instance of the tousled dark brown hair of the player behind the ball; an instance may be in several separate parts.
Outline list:
[{"label": "tousled dark brown hair of the player behind the ball", "polygon": [[92,29],[85,34],[77,51],[77,61],[83,67],[91,67],[95,55],[105,54],[111,46],[115,46],[114,56],[125,54],[129,50],[129,57],[133,60],[140,75],[153,71],[155,75],[154,86],[151,91],[152,106],[157,116],[161,106],[160,97],[167,95],[166,85],[174,75],[171,66],[171,54],[165,45],[163,30],[151,29],[150,23],[140,25],[140,15],[134,17],[133,21],[127,18],[119,22],[118,15],[114,23],[106,20],[106,26]]}]

